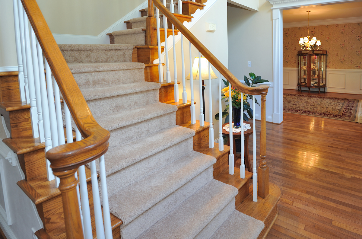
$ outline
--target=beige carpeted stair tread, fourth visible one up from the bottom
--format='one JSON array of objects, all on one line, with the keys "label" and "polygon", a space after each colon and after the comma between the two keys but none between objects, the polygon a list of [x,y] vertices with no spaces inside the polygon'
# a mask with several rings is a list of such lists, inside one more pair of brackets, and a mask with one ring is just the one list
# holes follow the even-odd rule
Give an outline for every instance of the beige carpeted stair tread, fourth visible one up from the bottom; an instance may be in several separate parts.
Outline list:
[{"label": "beige carpeted stair tread, fourth visible one up from the bottom", "polygon": [[[122,147],[114,147],[105,154],[106,175],[117,172],[131,164],[160,152],[174,144],[194,136],[194,132],[175,125],[173,127],[127,142]],[[168,140],[171,139],[171,140]],[[144,150],[147,148],[147,151]],[[122,155],[120,158],[119,155]]]}]

